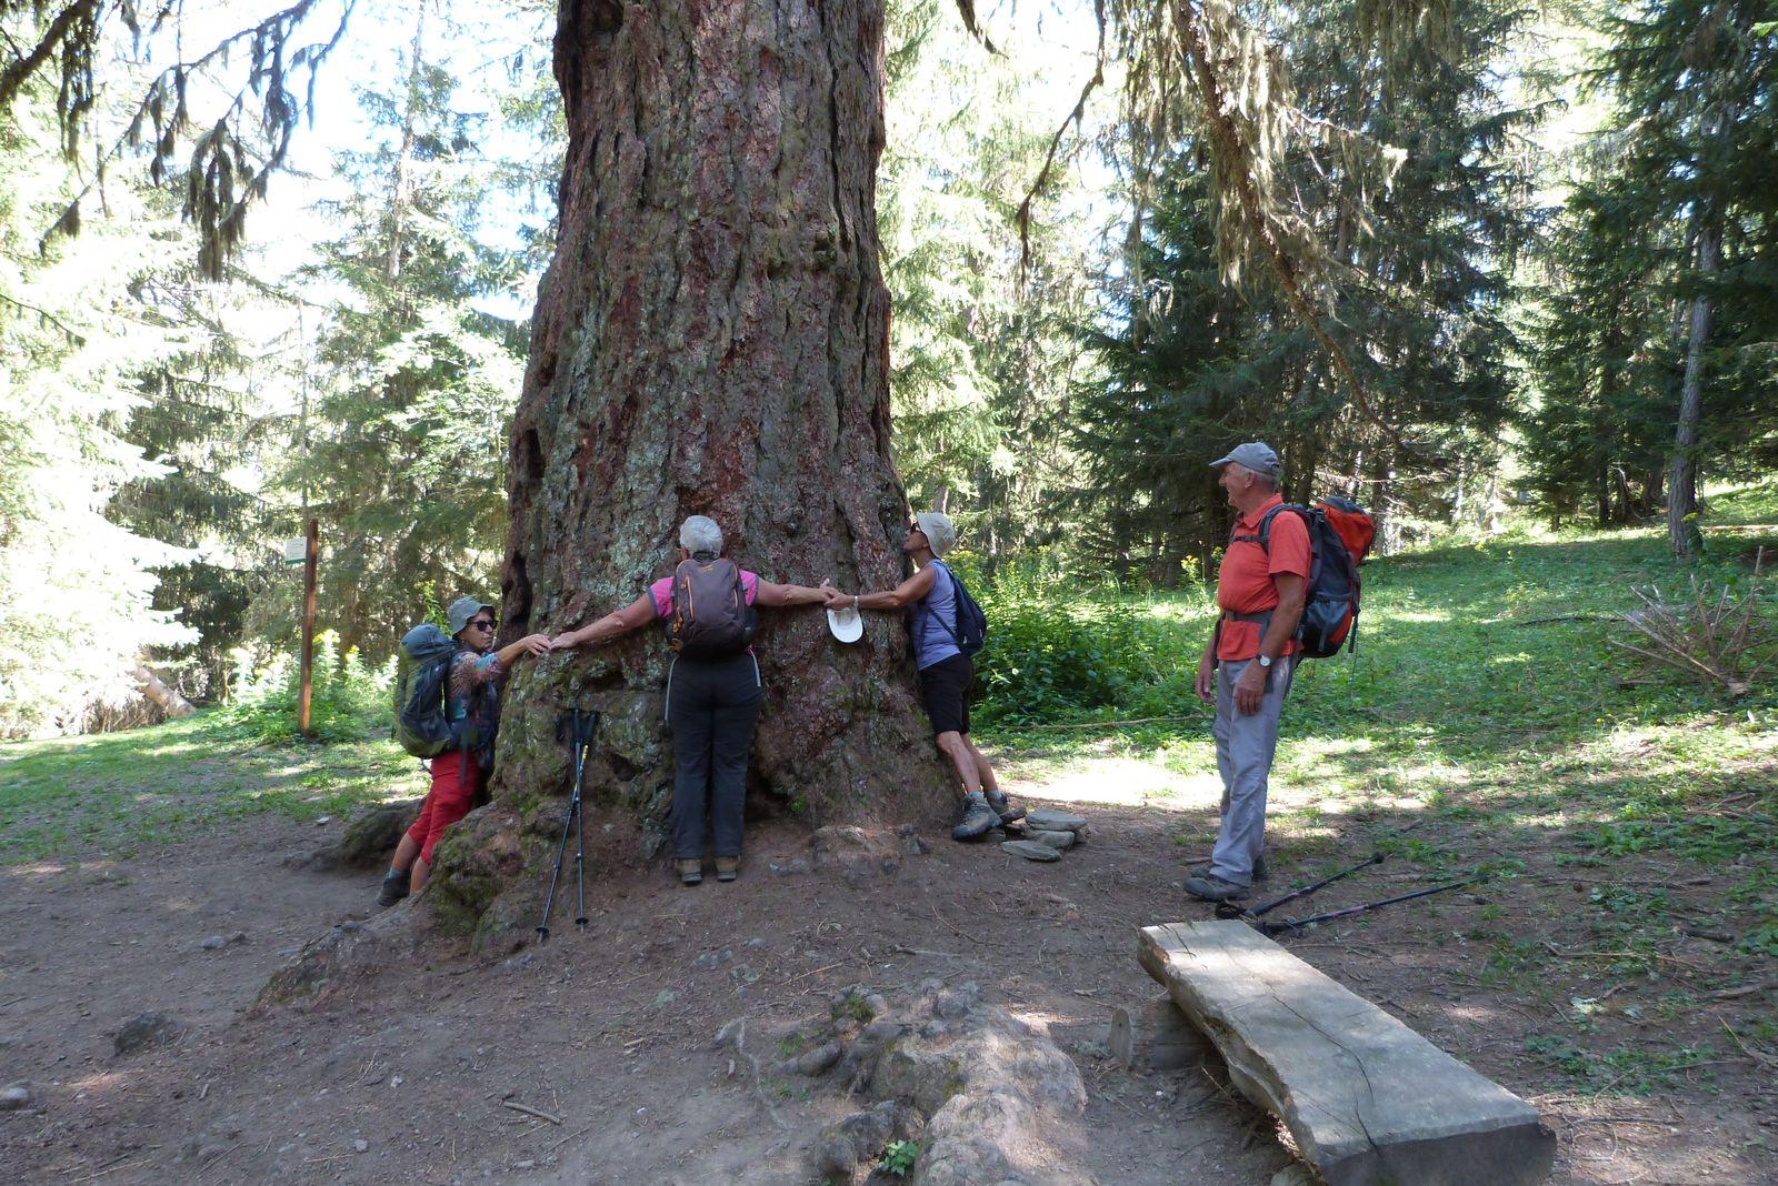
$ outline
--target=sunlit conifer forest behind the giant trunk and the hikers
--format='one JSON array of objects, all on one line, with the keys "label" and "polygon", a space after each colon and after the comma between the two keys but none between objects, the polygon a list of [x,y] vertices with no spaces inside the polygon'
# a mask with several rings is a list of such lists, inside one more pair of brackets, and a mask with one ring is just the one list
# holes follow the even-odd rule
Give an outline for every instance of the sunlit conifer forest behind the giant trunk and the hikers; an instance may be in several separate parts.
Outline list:
[{"label": "sunlit conifer forest behind the giant trunk and the hikers", "polygon": [[[165,71],[276,14],[112,23],[71,99],[66,69],[12,69],[48,11],[0,5],[0,737],[148,719],[142,664],[284,719],[277,545],[311,515],[324,726],[368,708],[405,625],[498,589],[560,176],[553,5],[299,7],[311,110],[268,114],[261,41]],[[1700,490],[1778,465],[1762,5],[1476,0],[1389,55],[1364,7],[1243,9],[1289,64],[1269,165],[1360,403],[1266,277],[1229,275],[1213,146],[1118,101],[1141,62],[1076,108],[1090,11],[983,5],[990,50],[951,4],[889,5],[896,463],[994,611],[990,717],[1152,669],[1115,597],[1061,602],[1213,573],[1205,463],[1243,439],[1278,446],[1289,497],[1371,506],[1385,552],[1664,517],[1689,561]],[[215,186],[263,201],[219,234]]]}]

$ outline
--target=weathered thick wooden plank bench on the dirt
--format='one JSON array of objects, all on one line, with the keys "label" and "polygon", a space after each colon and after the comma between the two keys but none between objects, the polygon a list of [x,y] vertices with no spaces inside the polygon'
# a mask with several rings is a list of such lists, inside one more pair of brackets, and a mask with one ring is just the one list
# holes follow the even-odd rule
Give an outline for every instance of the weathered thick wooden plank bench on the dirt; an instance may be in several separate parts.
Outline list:
[{"label": "weathered thick wooden plank bench on the dirt", "polygon": [[1138,959],[1328,1186],[1531,1186],[1536,1108],[1241,921],[1143,927]]}]

